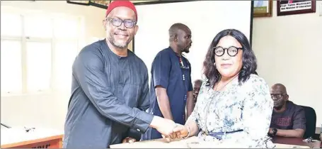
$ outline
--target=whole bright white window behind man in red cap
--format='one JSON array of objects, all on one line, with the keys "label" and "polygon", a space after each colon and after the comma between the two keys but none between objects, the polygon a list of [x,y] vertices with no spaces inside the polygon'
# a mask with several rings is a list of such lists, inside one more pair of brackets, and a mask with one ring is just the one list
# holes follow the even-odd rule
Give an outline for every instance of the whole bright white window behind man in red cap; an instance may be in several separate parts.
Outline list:
[{"label": "whole bright white window behind man in red cap", "polygon": [[2,18],[6,21],[1,23],[1,93],[70,91],[80,18],[1,13]]}]

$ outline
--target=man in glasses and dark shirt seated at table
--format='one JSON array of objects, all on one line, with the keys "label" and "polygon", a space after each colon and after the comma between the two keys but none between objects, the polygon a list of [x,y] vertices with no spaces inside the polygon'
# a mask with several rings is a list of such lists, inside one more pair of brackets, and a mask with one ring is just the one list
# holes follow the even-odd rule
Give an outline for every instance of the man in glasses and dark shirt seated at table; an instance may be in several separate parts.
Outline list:
[{"label": "man in glasses and dark shirt seated at table", "polygon": [[274,84],[270,94],[274,101],[274,111],[268,134],[302,138],[306,129],[304,109],[289,101],[289,95],[283,84]]}]

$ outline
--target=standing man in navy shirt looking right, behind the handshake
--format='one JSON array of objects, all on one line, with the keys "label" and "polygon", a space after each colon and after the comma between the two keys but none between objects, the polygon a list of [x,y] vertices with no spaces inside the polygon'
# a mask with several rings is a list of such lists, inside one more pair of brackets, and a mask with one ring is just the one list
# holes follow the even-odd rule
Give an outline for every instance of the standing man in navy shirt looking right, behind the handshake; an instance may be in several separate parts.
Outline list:
[{"label": "standing man in navy shirt looking right, behind the handshake", "polygon": [[[182,53],[189,53],[191,31],[183,23],[175,23],[169,29],[170,46],[161,50],[151,68],[151,101],[149,112],[184,125],[185,107],[187,116],[193,109],[191,65]],[[161,133],[151,128],[142,140],[162,138]]]}]

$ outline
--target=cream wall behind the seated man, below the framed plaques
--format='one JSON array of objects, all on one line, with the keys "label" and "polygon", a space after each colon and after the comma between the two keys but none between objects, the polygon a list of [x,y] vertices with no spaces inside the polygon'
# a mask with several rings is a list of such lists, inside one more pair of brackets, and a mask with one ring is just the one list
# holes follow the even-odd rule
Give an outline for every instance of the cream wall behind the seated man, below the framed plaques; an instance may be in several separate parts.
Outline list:
[{"label": "cream wall behind the seated man, below the framed plaques", "polygon": [[[316,1],[319,4],[320,1]],[[287,87],[289,100],[311,106],[322,123],[322,16],[316,13],[253,19],[253,50],[258,73],[270,84]]]}]

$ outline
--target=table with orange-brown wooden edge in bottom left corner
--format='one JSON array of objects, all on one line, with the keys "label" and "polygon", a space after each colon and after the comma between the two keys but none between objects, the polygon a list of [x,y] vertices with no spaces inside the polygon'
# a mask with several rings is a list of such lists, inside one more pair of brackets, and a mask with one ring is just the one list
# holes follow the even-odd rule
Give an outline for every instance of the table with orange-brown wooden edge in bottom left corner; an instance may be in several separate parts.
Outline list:
[{"label": "table with orange-brown wooden edge in bottom left corner", "polygon": [[52,129],[1,129],[1,148],[62,148],[63,133]]}]

